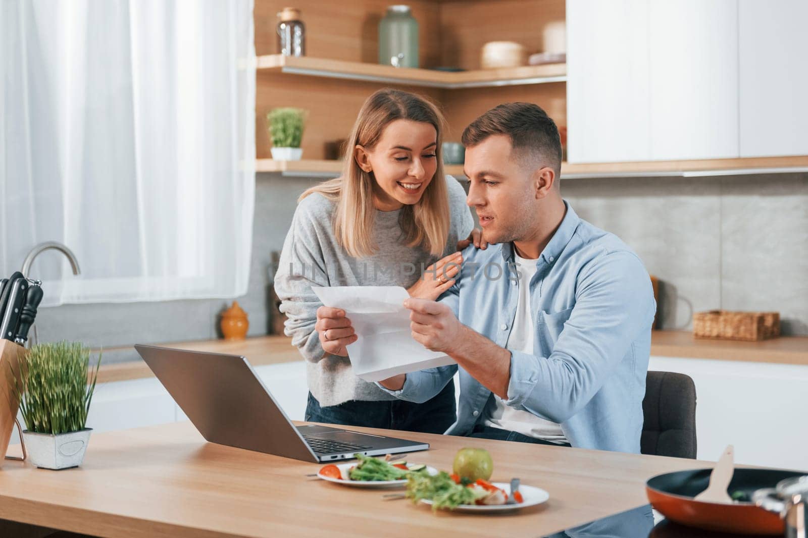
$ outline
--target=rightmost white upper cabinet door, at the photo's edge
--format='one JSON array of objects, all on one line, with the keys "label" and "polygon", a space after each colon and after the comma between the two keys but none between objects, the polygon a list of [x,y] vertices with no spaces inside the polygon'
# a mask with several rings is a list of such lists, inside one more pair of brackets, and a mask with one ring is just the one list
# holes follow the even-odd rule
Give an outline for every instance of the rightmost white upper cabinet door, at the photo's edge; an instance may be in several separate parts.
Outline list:
[{"label": "rightmost white upper cabinet door, at the photo's edge", "polygon": [[806,0],[740,0],[741,157],[808,155],[806,24]]}]

